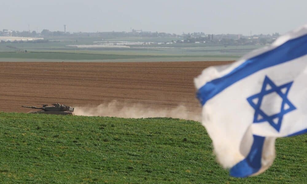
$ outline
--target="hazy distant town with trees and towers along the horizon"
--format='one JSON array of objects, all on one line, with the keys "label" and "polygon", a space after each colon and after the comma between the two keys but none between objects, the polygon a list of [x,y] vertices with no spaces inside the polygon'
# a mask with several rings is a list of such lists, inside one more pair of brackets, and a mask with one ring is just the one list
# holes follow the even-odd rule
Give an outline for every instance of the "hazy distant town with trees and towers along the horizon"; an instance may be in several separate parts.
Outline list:
[{"label": "hazy distant town with trees and towers along the horizon", "polygon": [[[242,35],[242,34],[208,34],[203,32],[183,33],[181,35],[163,33],[163,32],[150,32],[131,29],[130,32],[95,32],[95,33],[70,33],[66,32],[66,25],[64,25],[63,31],[50,31],[43,29],[40,33],[37,31],[15,31],[3,29],[0,31],[1,43],[14,42],[48,42],[50,38],[54,37],[101,37],[101,38],[121,38],[121,37],[160,37],[160,38],[172,38],[172,41],[165,41],[159,44],[214,44],[214,45],[266,45],[271,44],[279,33],[272,34],[260,34],[260,35]],[[169,39],[168,39],[169,40]],[[146,43],[150,44],[150,43]]]}]

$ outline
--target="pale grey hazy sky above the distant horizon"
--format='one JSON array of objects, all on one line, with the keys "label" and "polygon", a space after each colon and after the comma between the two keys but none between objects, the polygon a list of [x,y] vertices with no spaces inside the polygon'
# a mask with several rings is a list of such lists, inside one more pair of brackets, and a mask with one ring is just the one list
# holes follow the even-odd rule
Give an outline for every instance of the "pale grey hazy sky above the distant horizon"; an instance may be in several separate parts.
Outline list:
[{"label": "pale grey hazy sky above the distant horizon", "polygon": [[272,34],[307,23],[306,0],[0,0],[0,29]]}]

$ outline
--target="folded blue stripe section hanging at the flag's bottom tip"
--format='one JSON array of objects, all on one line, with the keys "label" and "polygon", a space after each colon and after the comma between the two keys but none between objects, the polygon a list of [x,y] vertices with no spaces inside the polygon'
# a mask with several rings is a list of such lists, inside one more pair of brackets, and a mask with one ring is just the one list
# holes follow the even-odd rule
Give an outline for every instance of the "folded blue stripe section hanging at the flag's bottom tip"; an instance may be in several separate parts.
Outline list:
[{"label": "folded blue stripe section hanging at the flag's bottom tip", "polygon": [[253,135],[254,142],[247,157],[230,169],[233,177],[247,177],[258,172],[261,168],[262,147],[265,137]]}]

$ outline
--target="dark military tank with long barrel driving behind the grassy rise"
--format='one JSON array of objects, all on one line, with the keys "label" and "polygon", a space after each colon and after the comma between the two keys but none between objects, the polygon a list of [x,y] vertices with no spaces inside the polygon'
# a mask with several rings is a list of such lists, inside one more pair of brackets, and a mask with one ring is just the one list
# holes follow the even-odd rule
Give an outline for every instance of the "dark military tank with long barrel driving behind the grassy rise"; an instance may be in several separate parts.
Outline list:
[{"label": "dark military tank with long barrel driving behind the grassy rise", "polygon": [[33,111],[30,113],[40,113],[40,114],[60,114],[60,115],[73,115],[74,109],[73,107],[62,105],[59,103],[52,104],[52,106],[48,106],[48,104],[43,104],[42,107],[35,106],[21,106],[31,109],[41,109],[40,111]]}]

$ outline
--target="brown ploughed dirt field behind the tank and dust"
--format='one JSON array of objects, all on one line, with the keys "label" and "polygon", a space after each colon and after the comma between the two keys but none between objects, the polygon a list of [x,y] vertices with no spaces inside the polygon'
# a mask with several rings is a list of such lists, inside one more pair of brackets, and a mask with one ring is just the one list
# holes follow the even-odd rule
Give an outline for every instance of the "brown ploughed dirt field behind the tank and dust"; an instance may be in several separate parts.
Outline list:
[{"label": "brown ploughed dirt field behind the tank and dust", "polygon": [[58,102],[96,107],[117,100],[154,109],[184,105],[197,114],[193,78],[224,63],[230,62],[0,62],[0,111],[29,112],[21,105]]}]

